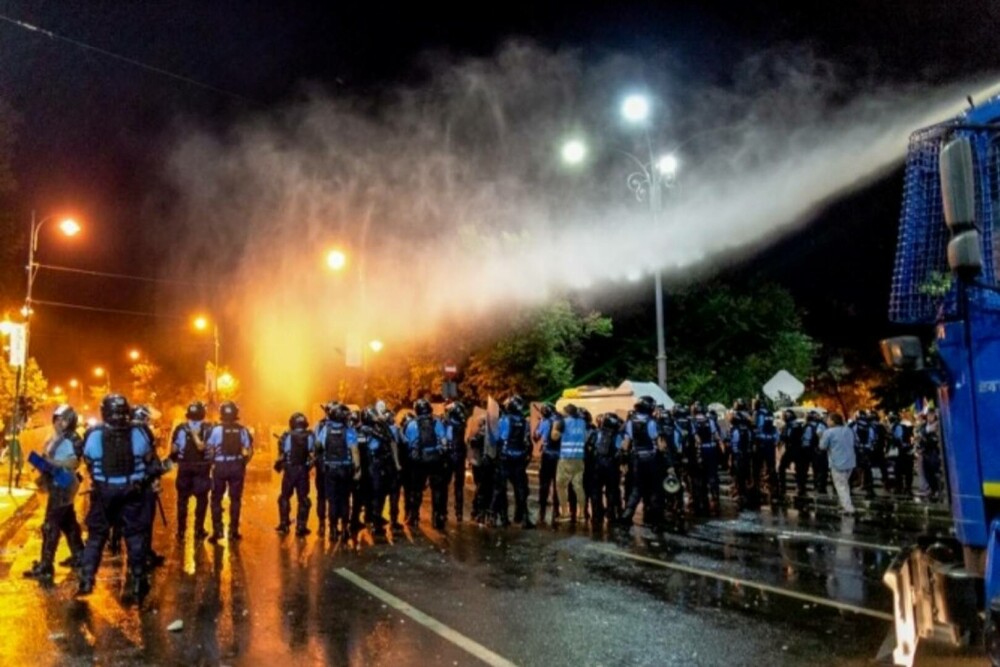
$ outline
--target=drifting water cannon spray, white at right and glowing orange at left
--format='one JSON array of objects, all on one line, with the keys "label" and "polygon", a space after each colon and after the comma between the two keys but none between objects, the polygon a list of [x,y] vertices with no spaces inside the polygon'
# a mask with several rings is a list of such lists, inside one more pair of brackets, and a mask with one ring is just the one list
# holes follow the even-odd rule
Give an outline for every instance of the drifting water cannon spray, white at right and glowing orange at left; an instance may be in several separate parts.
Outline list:
[{"label": "drifting water cannon spray, white at right and glowing orange at left", "polygon": [[[515,43],[428,58],[421,83],[374,96],[310,90],[225,133],[186,127],[169,175],[196,231],[176,269],[225,277],[244,386],[290,410],[324,398],[348,334],[388,348],[453,321],[502,326],[506,304],[754,252],[897,166],[912,130],[984,97],[970,82],[859,92],[801,54],[748,61],[727,86],[681,72]],[[619,150],[648,157],[619,115],[631,90],[652,95],[652,143],[680,161],[657,220],[626,187]],[[571,137],[589,155],[573,168],[559,158]]]}]

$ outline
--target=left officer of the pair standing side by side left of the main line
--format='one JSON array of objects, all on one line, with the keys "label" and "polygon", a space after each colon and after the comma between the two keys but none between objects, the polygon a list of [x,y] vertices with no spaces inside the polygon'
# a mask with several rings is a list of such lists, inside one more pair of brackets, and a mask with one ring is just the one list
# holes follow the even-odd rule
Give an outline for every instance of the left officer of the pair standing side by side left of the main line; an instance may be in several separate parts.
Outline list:
[{"label": "left officer of the pair standing side by side left of the main line", "polygon": [[194,496],[194,538],[208,537],[205,515],[208,492],[212,490],[212,460],[208,455],[208,436],[212,424],[205,420],[205,404],[195,401],[187,406],[187,421],[178,424],[171,437],[170,458],[177,463],[177,538],[184,539],[188,505]]}]

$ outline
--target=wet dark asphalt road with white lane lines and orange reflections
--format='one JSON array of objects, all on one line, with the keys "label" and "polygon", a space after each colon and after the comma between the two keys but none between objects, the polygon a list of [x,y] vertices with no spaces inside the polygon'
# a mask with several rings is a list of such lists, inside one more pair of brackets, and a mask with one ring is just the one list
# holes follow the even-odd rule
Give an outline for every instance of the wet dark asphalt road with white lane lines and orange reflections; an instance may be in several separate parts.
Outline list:
[{"label": "wet dark asphalt road with white lane lines and orange reflections", "polygon": [[[190,531],[175,544],[165,480],[171,525],[157,524],[155,544],[168,562],[141,607],[121,601],[121,559],[105,560],[86,600],[65,568],[48,589],[22,579],[40,548],[36,512],[0,559],[0,664],[871,664],[891,639],[882,572],[916,532],[947,528],[919,511],[730,508],[662,537],[468,521],[438,532],[425,506],[413,532],[336,545],[274,532],[279,477],[263,459],[237,544],[194,544]],[[168,631],[175,620],[183,630]],[[925,650],[918,664],[985,661]]]}]

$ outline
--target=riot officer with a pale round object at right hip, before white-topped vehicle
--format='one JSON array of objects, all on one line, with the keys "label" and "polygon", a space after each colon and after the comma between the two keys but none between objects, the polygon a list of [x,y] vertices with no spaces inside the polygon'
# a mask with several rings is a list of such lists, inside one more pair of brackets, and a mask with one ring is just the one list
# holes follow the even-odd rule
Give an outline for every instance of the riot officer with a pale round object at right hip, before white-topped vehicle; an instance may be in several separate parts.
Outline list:
[{"label": "riot officer with a pale round object at right hip, before white-topped vehicle", "polygon": [[639,501],[642,501],[645,522],[654,530],[663,528],[663,468],[673,473],[673,457],[660,433],[653,411],[656,401],[642,396],[635,403],[632,417],[625,424],[622,451],[632,457],[632,495],[628,499],[620,523],[632,525]]}]

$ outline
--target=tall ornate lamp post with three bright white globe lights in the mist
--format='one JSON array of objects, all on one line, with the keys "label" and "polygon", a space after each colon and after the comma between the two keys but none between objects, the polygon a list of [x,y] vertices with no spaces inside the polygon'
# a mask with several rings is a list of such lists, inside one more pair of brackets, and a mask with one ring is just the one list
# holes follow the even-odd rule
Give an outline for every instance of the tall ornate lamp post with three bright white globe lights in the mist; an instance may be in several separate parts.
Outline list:
[{"label": "tall ornate lamp post with three bright white globe lights in the mist", "polygon": [[[648,159],[642,160],[632,153],[620,151],[636,165],[625,180],[626,185],[640,202],[649,202],[649,215],[653,224],[659,222],[663,205],[663,188],[673,187],[678,161],[673,154],[656,156],[653,142],[649,137],[646,121],[649,118],[650,103],[643,95],[629,95],[622,102],[622,116],[629,123],[642,125],[648,150]],[[562,158],[567,164],[580,164],[587,156],[586,145],[579,139],[563,144]],[[659,267],[653,271],[656,290],[656,380],[663,391],[667,390],[667,343],[663,307],[663,277]]]}]

